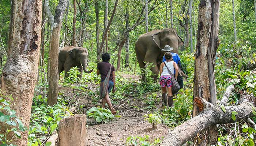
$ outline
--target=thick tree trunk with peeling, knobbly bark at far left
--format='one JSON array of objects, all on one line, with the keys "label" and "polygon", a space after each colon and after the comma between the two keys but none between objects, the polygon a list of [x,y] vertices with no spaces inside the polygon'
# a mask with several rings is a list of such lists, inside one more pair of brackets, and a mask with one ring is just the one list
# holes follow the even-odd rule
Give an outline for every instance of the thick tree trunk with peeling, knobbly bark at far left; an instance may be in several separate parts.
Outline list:
[{"label": "thick tree trunk with peeling, knobbly bark at far left", "polygon": [[[20,117],[26,128],[29,128],[38,73],[41,22],[42,0],[12,0],[8,59],[2,70],[1,90],[4,95],[16,99],[10,101],[11,109],[15,110],[16,116]],[[1,127],[0,134],[5,134],[6,130],[7,127]],[[28,131],[19,132],[20,139],[12,138],[13,133],[9,133],[7,139],[12,139],[13,145],[27,146]]]}]

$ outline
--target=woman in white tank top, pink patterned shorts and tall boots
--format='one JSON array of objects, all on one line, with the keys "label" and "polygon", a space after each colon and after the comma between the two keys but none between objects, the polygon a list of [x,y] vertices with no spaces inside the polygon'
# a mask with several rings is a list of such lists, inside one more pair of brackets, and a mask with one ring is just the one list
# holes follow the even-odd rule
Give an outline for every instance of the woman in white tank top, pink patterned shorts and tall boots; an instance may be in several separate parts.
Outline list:
[{"label": "woman in white tank top, pink patterned shorts and tall boots", "polygon": [[[173,104],[173,93],[172,93],[172,77],[170,72],[173,74],[174,69],[178,70],[176,62],[172,61],[172,54],[170,52],[165,53],[166,61],[160,65],[160,85],[162,88],[162,99],[163,103],[167,105],[166,87],[168,90],[168,105],[169,107]],[[167,67],[166,67],[167,66]],[[175,79],[178,78],[178,72],[175,73]]]}]

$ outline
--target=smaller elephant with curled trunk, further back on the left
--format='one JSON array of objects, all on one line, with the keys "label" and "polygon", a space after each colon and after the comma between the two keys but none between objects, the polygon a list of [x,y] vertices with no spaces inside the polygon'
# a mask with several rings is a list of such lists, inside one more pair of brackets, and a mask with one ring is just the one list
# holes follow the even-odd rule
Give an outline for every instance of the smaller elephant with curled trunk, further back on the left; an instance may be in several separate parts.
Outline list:
[{"label": "smaller elephant with curled trunk, further back on the left", "polygon": [[79,78],[82,78],[83,70],[85,73],[93,72],[86,70],[88,62],[88,51],[86,48],[66,46],[59,50],[59,78],[60,73],[65,70],[65,77],[68,76],[67,72],[72,68],[77,66],[80,74]]}]

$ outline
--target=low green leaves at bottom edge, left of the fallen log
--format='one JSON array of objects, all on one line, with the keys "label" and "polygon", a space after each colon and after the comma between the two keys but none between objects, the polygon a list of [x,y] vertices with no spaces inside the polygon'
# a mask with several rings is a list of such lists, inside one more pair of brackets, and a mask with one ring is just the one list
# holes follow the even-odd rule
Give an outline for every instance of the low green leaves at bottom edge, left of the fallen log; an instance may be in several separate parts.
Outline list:
[{"label": "low green leaves at bottom edge, left of the fallen log", "polygon": [[149,136],[146,135],[144,137],[139,136],[130,136],[126,140],[126,146],[157,146],[161,143],[159,138],[154,139],[154,142],[149,142]]}]

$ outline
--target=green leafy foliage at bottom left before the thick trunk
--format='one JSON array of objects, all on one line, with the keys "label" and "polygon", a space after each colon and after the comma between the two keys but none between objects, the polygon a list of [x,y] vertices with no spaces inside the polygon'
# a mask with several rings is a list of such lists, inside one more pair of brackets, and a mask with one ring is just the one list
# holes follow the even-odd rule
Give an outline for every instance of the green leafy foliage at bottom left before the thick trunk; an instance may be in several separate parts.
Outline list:
[{"label": "green leafy foliage at bottom left before the thick trunk", "polygon": [[15,106],[12,103],[13,98],[0,91],[0,129],[5,130],[0,134],[1,146],[14,146],[10,142],[14,138],[21,138],[20,131],[27,130],[20,118],[16,116],[16,111],[11,109]]}]

